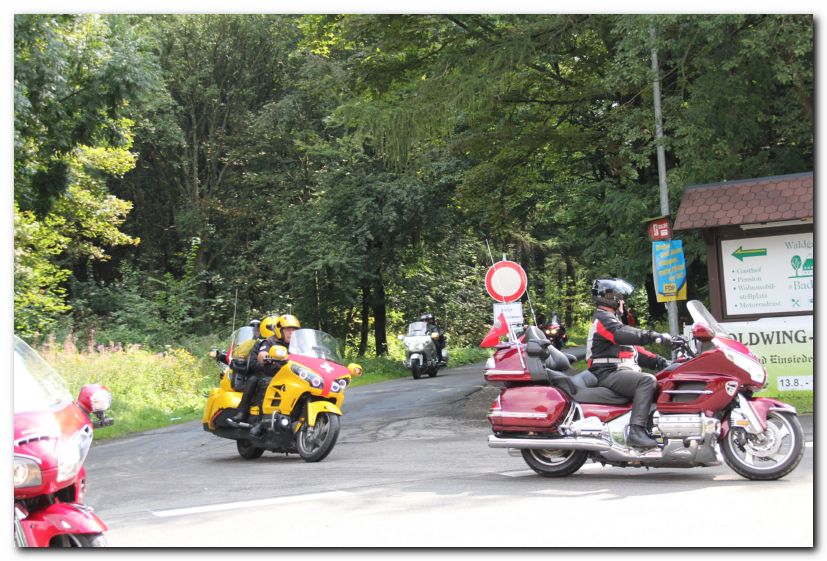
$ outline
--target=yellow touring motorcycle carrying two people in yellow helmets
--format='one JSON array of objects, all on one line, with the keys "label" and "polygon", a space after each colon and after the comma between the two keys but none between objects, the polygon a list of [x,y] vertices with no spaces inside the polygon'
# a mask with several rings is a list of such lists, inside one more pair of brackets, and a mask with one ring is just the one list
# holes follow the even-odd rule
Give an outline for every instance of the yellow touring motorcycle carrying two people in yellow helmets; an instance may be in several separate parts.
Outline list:
[{"label": "yellow touring motorcycle carrying two people in yellow helmets", "polygon": [[342,365],[334,337],[315,329],[298,329],[289,349],[270,348],[270,357],[282,366],[263,395],[253,400],[249,422],[236,423],[232,417],[238,413],[244,383],[256,360],[250,353],[253,337],[252,328],[242,327],[233,334],[229,350],[212,351],[221,374],[204,408],[204,430],[235,440],[239,455],[247,460],[261,457],[265,450],[298,453],[308,462],[323,460],[339,437],[345,389],[354,376],[361,376],[361,366]]}]

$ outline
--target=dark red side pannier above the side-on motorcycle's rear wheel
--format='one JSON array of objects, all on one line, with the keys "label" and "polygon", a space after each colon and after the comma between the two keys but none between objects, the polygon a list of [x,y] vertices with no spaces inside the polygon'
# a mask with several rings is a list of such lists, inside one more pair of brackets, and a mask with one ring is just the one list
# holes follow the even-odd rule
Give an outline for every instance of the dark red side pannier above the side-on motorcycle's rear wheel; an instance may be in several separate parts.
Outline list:
[{"label": "dark red side pannier above the side-on motorcycle's rear wheel", "polygon": [[521,386],[500,393],[488,412],[494,431],[549,431],[563,420],[571,401],[551,386]]}]

